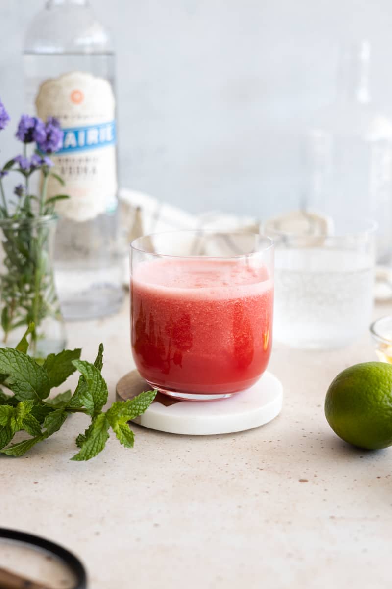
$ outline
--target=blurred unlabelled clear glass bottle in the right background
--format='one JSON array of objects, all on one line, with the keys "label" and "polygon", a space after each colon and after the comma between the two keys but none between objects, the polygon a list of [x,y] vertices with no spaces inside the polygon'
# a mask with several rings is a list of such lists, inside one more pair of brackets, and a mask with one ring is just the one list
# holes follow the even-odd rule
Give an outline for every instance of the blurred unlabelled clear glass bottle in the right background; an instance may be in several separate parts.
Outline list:
[{"label": "blurred unlabelled clear glass bottle in the right background", "polygon": [[306,206],[333,219],[374,219],[377,258],[392,257],[392,121],[370,94],[370,44],[343,48],[337,97],[317,112],[307,137]]}]

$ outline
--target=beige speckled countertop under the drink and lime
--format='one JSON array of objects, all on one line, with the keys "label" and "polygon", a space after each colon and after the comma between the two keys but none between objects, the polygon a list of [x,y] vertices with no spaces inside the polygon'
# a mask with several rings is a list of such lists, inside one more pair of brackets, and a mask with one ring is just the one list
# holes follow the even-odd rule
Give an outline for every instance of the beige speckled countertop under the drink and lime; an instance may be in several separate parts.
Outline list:
[{"label": "beige speckled countertop under the drink and lime", "polygon": [[[105,343],[113,399],[133,367],[127,306],[68,334],[88,359]],[[133,450],[110,439],[86,464],[69,461],[87,422],[74,416],[24,458],[0,459],[0,524],[75,551],[89,589],[389,588],[392,449],[351,448],[323,410],[333,377],[373,359],[367,334],[334,352],[276,344],[285,399],[273,422],[207,437],[135,425]]]}]

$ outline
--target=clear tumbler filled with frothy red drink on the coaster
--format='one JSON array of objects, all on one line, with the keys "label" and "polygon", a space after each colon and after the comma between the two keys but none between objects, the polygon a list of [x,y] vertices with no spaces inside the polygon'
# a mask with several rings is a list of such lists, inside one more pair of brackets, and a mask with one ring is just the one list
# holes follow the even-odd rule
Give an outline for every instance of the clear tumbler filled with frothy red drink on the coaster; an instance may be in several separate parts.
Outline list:
[{"label": "clear tumbler filled with frothy red drink on the coaster", "polygon": [[213,231],[139,237],[130,274],[132,353],[150,386],[207,400],[259,379],[272,345],[272,240]]}]

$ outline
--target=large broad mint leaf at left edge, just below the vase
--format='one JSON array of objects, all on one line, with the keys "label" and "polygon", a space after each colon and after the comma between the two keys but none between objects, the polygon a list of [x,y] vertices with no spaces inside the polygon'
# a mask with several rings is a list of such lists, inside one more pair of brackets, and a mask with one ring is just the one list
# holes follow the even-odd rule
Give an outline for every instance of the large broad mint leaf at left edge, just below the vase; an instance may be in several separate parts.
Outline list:
[{"label": "large broad mint leaf at left edge, just below the vase", "polygon": [[8,375],[6,386],[17,399],[45,399],[49,395],[49,376],[43,366],[23,352],[0,348],[0,373]]}]

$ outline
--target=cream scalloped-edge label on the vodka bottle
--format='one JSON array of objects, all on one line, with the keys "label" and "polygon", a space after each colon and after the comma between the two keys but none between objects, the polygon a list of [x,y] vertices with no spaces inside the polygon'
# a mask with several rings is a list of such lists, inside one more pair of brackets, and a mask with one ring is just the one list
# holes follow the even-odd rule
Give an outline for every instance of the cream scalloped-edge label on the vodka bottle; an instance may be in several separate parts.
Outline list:
[{"label": "cream scalloped-edge label on the vodka bottle", "polygon": [[41,84],[37,114],[44,121],[56,117],[64,131],[63,148],[51,158],[61,187],[51,177],[48,197],[68,194],[56,212],[75,221],[88,221],[116,209],[115,97],[107,80],[81,71],[63,74]]}]

